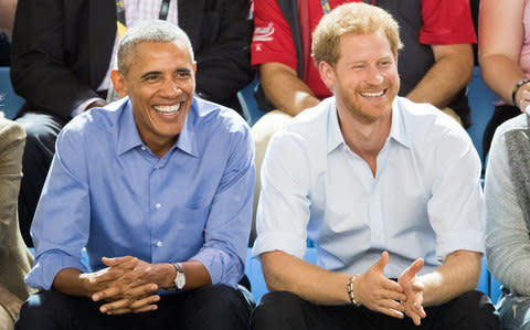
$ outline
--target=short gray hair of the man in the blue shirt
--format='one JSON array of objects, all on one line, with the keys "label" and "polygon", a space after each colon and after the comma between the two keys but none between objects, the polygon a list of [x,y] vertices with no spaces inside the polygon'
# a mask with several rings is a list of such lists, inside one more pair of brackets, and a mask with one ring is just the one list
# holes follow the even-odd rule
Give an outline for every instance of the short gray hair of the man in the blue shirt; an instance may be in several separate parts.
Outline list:
[{"label": "short gray hair of the man in the blue shirt", "polygon": [[118,46],[118,70],[127,74],[130,65],[130,56],[135,47],[144,42],[172,42],[178,46],[188,49],[191,61],[194,62],[191,41],[182,29],[161,20],[144,21],[128,28],[119,41]]}]

